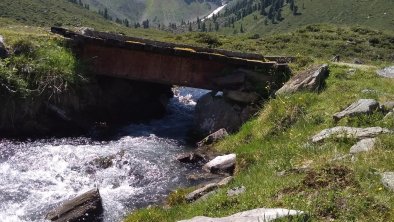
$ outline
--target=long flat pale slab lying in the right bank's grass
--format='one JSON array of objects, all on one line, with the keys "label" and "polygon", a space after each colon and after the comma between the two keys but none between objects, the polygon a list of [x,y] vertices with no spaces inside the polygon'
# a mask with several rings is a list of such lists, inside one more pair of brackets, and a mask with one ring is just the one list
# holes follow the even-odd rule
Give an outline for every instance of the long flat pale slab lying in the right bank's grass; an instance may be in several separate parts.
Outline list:
[{"label": "long flat pale slab lying in the right bank's grass", "polygon": [[374,138],[380,134],[387,133],[392,133],[392,131],[381,127],[355,128],[348,126],[337,126],[334,128],[322,130],[320,133],[312,137],[312,142],[321,142],[330,137],[355,138],[360,140],[366,138]]}]

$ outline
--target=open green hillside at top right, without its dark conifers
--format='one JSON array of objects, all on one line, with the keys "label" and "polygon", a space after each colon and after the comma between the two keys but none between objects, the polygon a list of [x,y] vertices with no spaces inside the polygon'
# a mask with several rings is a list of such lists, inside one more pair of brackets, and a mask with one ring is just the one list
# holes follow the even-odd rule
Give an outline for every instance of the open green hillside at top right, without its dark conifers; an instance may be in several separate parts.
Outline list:
[{"label": "open green hillside at top right, without its dark conifers", "polygon": [[[255,12],[236,23],[239,32],[242,23],[247,33],[271,34],[291,31],[315,23],[337,25],[361,25],[379,30],[392,31],[394,28],[394,1],[391,0],[297,0],[301,15],[292,15],[288,6],[282,12],[283,21],[278,24],[264,24],[265,17]],[[304,8],[302,6],[305,6]],[[254,16],[257,15],[257,20]],[[223,28],[223,33],[232,34],[233,28]]]}]

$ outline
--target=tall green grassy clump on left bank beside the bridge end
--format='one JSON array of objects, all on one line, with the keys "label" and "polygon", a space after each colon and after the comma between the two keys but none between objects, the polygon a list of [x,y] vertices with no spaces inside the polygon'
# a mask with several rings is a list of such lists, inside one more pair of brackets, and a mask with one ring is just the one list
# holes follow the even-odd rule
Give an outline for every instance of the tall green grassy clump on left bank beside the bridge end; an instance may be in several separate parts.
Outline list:
[{"label": "tall green grassy clump on left bank beside the bridge end", "polygon": [[64,40],[40,29],[2,30],[13,55],[0,60],[2,96],[56,95],[82,79],[79,63]]}]

